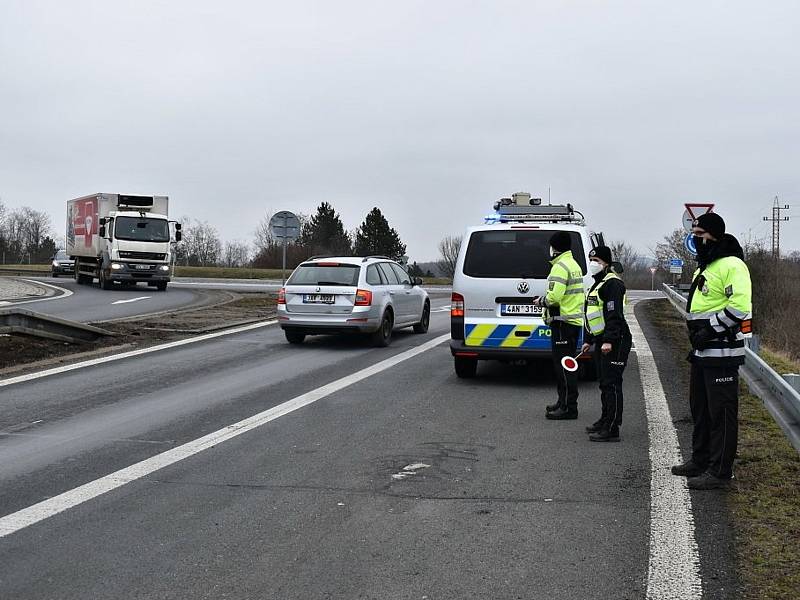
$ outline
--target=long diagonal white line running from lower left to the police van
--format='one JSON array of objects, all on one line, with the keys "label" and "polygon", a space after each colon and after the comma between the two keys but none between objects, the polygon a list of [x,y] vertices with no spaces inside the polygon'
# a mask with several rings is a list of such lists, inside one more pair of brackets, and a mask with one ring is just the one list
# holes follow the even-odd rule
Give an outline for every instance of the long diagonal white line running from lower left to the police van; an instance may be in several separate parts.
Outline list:
[{"label": "long diagonal white line running from lower left to the police van", "polygon": [[260,412],[257,415],[243,419],[238,423],[233,423],[232,425],[223,427],[222,429],[213,433],[209,433],[201,438],[187,442],[186,444],[172,448],[171,450],[167,450],[161,454],[157,454],[152,458],[145,459],[129,467],[125,467],[124,469],[120,469],[119,471],[111,473],[110,475],[106,475],[105,477],[101,477],[100,479],[96,479],[95,481],[91,481],[80,487],[64,492],[63,494],[59,494],[58,496],[43,500],[38,504],[34,504],[27,508],[23,508],[22,510],[18,510],[17,512],[6,515],[5,517],[0,518],[0,537],[5,537],[14,533],[15,531],[19,531],[20,529],[24,529],[25,527],[43,521],[44,519],[52,517],[53,515],[57,515],[65,510],[78,506],[79,504],[88,502],[93,498],[97,498],[98,496],[122,487],[127,483],[141,479],[142,477],[158,471],[159,469],[173,465],[184,460],[185,458],[194,456],[203,450],[213,448],[222,442],[238,437],[243,433],[265,425],[270,421],[274,421],[275,419],[278,419],[284,415],[288,415],[289,413],[303,408],[304,406],[313,404],[317,400],[321,400],[326,396],[330,396],[331,394],[358,383],[359,381],[362,381],[368,377],[371,377],[372,375],[376,375],[387,369],[390,369],[410,358],[417,356],[418,354],[427,352],[428,350],[435,348],[445,340],[449,339],[449,333],[440,335],[439,337],[434,338],[433,340],[420,346],[416,346],[415,348],[401,352],[400,354],[392,356],[391,358],[387,358],[386,360],[382,360],[371,367],[367,367],[366,369],[362,369],[361,371],[357,371],[351,375],[337,379],[336,381],[327,385],[323,385],[315,390],[301,394],[300,396],[288,400],[283,404],[279,404],[278,406]]}]

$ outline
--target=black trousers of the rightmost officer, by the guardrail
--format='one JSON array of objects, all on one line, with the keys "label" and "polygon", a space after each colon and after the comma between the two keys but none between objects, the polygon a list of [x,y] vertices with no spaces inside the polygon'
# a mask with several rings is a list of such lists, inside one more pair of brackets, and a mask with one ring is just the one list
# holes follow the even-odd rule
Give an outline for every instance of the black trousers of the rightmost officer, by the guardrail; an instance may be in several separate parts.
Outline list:
[{"label": "black trousers of the rightmost officer, by the guardrail", "polygon": [[739,367],[692,362],[692,462],[714,477],[730,479],[739,442]]}]

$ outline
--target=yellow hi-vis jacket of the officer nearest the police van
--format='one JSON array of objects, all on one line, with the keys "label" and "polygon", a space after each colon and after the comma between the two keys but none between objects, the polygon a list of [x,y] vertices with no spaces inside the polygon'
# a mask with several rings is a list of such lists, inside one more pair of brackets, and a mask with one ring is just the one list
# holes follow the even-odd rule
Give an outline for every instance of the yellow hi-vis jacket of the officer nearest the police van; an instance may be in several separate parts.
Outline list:
[{"label": "yellow hi-vis jacket of the officer nearest the police van", "polygon": [[544,322],[566,321],[583,326],[583,303],[586,291],[583,272],[571,251],[563,252],[550,261],[553,265],[547,277],[547,294],[544,297]]}]

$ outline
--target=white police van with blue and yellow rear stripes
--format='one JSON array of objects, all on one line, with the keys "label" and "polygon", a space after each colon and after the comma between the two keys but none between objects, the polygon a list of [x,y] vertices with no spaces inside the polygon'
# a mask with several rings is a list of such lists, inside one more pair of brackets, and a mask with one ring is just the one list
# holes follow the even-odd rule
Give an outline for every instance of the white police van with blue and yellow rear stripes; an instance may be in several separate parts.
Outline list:
[{"label": "white police van with blue and yellow rear stripes", "polygon": [[474,377],[479,360],[517,361],[551,355],[550,328],[535,296],[547,292],[550,237],[566,231],[584,286],[589,250],[603,243],[571,205],[543,205],[519,192],[494,205],[486,223],[467,229],[456,261],[450,309],[450,351],[459,377]]}]

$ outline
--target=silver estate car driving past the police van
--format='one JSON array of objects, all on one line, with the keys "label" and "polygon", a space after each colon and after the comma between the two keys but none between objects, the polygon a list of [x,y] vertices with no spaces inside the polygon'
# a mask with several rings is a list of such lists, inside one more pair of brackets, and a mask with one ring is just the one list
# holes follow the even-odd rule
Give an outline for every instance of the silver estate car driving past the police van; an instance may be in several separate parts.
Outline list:
[{"label": "silver estate car driving past the police van", "polygon": [[362,333],[388,346],[396,329],[428,331],[431,303],[421,283],[386,257],[314,257],[280,290],[278,322],[291,344],[307,335]]}]

